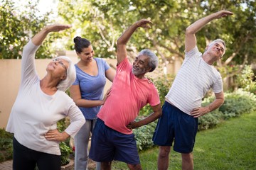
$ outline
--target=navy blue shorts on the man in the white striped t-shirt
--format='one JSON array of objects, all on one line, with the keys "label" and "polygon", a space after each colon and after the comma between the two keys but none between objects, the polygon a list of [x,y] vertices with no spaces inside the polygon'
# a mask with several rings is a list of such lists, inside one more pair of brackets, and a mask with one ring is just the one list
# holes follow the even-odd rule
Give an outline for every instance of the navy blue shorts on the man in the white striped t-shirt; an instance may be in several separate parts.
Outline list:
[{"label": "navy blue shorts on the man in the white striped t-shirt", "polygon": [[179,153],[193,151],[198,130],[198,118],[183,113],[168,102],[162,107],[162,115],[156,125],[153,142],[159,146],[172,146]]}]

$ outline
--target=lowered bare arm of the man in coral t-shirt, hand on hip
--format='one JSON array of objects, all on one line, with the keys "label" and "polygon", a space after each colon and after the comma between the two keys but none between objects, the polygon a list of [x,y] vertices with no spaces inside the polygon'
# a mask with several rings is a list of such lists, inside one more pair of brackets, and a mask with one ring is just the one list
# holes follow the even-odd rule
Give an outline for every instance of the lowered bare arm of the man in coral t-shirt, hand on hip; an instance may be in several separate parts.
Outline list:
[{"label": "lowered bare arm of the man in coral t-shirt, hand on hip", "polygon": [[139,128],[139,127],[149,124],[149,123],[153,122],[154,120],[156,120],[157,118],[159,118],[162,113],[161,103],[159,103],[156,106],[153,106],[152,109],[153,109],[153,113],[151,113],[148,117],[144,118],[143,120],[140,120],[139,122],[130,123],[129,125],[127,125],[127,128],[130,130],[132,130],[134,128]]}]

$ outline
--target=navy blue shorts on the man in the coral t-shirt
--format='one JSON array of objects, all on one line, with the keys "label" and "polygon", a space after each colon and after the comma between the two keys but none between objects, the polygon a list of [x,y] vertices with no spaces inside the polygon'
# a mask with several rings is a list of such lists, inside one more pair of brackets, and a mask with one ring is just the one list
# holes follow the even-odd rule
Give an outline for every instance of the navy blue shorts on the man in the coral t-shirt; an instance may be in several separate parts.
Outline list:
[{"label": "navy blue shorts on the man in the coral t-shirt", "polygon": [[92,132],[89,157],[95,162],[117,160],[127,164],[140,164],[134,134],[117,132],[107,127],[99,118]]}]

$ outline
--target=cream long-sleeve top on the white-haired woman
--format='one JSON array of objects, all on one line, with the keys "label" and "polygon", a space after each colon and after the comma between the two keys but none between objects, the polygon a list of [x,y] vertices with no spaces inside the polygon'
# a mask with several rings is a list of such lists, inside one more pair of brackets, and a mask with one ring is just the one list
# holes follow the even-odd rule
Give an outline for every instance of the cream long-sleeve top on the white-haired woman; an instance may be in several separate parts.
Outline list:
[{"label": "cream long-sleeve top on the white-haired woman", "polygon": [[45,133],[56,129],[58,120],[68,116],[70,125],[65,132],[75,136],[85,118],[64,91],[48,95],[41,90],[34,60],[38,47],[30,40],[23,49],[21,85],[6,131],[14,133],[16,140],[29,149],[60,155],[59,142],[46,140]]}]

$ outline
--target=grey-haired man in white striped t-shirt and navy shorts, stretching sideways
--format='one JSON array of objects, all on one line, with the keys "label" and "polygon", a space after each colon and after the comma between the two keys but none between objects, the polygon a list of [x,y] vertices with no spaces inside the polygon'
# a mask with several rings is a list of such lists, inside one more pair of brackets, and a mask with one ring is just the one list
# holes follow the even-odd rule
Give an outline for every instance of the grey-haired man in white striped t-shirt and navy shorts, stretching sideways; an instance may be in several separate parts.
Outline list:
[{"label": "grey-haired man in white striped t-shirt and navy shorts, stretching sideways", "polygon": [[[172,143],[181,153],[182,169],[193,169],[193,147],[198,129],[198,117],[205,115],[224,102],[223,82],[213,63],[223,57],[225,42],[217,39],[198,51],[196,33],[213,19],[230,16],[230,11],[218,11],[199,19],[186,28],[185,60],[166,95],[162,116],[154,132],[154,144],[159,145],[158,169],[168,169]],[[202,98],[212,88],[215,101],[202,107]]]}]

